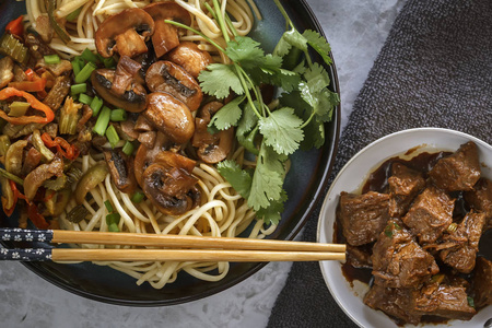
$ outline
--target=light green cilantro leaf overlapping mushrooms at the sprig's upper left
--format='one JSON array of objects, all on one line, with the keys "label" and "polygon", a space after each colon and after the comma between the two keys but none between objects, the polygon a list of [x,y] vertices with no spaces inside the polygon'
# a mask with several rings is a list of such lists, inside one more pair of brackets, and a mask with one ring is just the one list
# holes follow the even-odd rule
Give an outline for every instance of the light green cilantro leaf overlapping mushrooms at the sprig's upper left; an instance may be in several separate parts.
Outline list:
[{"label": "light green cilantro leaf overlapping mushrooms at the sprig's upper left", "polygon": [[225,98],[231,90],[238,95],[245,92],[232,65],[211,63],[198,75],[198,81],[204,93],[218,98]]}]

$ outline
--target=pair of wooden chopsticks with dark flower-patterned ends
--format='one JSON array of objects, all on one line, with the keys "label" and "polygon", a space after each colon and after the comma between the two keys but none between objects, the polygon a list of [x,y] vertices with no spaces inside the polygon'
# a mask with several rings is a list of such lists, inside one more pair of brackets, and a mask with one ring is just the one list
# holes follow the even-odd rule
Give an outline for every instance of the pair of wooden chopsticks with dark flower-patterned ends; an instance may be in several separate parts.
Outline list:
[{"label": "pair of wooden chopsticks with dark flower-patterned ends", "polygon": [[345,259],[345,245],[343,244],[319,244],[237,237],[0,229],[0,239],[5,242],[173,247],[167,249],[0,248],[0,260],[260,262]]}]

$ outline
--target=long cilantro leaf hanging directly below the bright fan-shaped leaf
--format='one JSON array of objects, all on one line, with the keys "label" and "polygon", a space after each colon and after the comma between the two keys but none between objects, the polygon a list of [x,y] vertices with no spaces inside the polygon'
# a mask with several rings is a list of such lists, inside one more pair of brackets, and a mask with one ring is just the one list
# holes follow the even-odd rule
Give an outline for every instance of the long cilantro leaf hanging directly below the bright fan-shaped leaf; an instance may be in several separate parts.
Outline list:
[{"label": "long cilantro leaf hanging directly below the bright fan-shaped leaf", "polygon": [[265,147],[265,144],[261,147],[253,175],[248,206],[255,211],[258,211],[260,208],[266,209],[272,200],[279,200],[281,198],[283,169],[279,173],[270,169],[270,167],[279,167],[282,164],[278,162],[278,155],[271,153],[274,153],[272,149]]}]

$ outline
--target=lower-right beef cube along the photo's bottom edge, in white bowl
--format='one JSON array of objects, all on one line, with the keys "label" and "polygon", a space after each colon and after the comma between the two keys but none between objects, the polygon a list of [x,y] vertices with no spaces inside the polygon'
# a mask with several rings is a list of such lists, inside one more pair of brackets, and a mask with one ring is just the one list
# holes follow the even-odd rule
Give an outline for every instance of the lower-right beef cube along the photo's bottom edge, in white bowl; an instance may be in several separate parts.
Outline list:
[{"label": "lower-right beef cube along the photo's bottom edge, in white bowl", "polygon": [[458,320],[469,320],[477,313],[464,286],[432,283],[412,293],[411,313]]}]

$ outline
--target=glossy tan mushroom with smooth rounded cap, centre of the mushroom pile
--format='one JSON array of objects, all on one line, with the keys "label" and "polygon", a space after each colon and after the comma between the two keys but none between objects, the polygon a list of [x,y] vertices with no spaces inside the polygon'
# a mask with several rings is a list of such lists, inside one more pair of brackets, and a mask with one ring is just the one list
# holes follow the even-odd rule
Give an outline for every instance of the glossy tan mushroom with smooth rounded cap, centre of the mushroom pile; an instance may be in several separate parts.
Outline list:
[{"label": "glossy tan mushroom with smooth rounded cap, centre of the mushroom pile", "polygon": [[173,142],[185,143],[195,131],[188,107],[168,93],[154,92],[148,96],[149,105],[142,115]]}]

